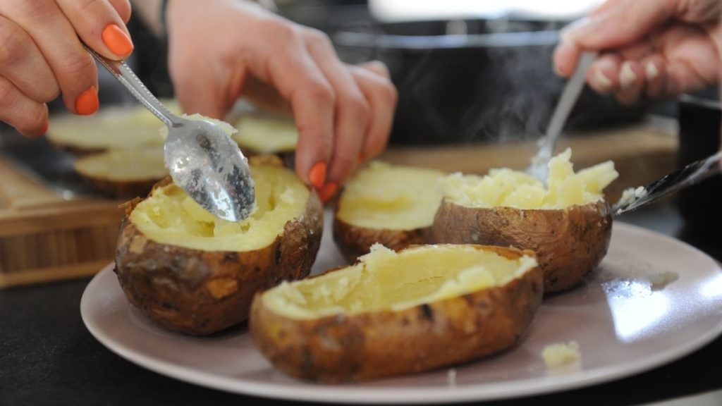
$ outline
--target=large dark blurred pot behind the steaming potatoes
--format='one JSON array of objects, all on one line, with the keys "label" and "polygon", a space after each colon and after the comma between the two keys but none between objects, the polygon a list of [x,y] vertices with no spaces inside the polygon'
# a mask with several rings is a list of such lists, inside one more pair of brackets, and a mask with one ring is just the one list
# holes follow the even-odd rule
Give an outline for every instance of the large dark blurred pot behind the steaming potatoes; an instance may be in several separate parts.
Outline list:
[{"label": "large dark blurred pot behind the steaming potatoes", "polygon": [[[552,69],[563,22],[459,20],[368,25],[331,35],[342,59],[384,61],[399,90],[391,143],[516,140],[544,133],[564,85]],[[585,90],[567,129],[640,118]]]}]

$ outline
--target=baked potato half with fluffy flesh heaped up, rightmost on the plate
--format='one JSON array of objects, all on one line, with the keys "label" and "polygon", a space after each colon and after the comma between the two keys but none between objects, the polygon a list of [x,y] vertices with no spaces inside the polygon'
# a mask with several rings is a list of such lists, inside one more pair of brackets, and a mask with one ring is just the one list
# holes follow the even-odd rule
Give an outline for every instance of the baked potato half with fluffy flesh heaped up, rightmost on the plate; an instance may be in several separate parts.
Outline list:
[{"label": "baked potato half with fluffy flesh heaped up, rightmost on the plate", "polygon": [[515,246],[536,253],[544,292],[577,285],[604,258],[612,217],[602,190],[617,178],[606,162],[574,173],[571,151],[549,163],[547,187],[510,169],[445,178],[431,240]]}]

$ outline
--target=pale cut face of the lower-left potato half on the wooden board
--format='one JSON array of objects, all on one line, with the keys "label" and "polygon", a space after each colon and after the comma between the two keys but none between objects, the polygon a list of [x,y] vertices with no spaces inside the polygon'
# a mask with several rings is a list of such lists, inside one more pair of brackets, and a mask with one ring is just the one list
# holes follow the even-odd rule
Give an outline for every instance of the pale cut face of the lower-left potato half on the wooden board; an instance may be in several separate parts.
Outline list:
[{"label": "pale cut face of the lower-left potato half on the wooden board", "polygon": [[144,150],[108,150],[75,161],[75,169],[86,176],[114,181],[160,179],[168,176],[162,147]]}]

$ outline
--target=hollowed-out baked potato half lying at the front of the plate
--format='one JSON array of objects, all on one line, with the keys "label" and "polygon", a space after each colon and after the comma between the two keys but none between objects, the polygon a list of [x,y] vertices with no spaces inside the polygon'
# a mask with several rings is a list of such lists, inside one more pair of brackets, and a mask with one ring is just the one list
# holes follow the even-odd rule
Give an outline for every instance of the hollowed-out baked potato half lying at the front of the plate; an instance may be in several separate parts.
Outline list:
[{"label": "hollowed-out baked potato half lying at the front of the plate", "polygon": [[336,383],[499,353],[542,297],[534,253],[474,245],[375,245],[360,262],[253,299],[253,342],[300,379]]}]

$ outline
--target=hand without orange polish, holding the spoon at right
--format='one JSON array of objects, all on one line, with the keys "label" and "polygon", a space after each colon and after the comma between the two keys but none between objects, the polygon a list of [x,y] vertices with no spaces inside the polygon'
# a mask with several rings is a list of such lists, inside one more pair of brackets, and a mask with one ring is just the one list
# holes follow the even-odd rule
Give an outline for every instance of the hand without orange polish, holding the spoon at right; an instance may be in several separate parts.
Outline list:
[{"label": "hand without orange polish, holding the spoon at right", "polygon": [[567,77],[601,51],[587,82],[625,104],[700,90],[721,79],[721,18],[719,0],[608,0],[562,30],[554,68]]}]

